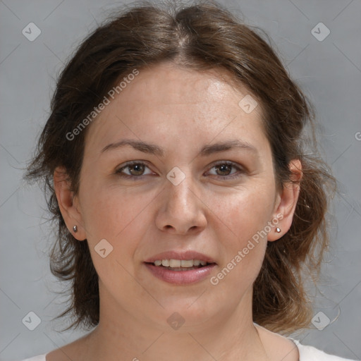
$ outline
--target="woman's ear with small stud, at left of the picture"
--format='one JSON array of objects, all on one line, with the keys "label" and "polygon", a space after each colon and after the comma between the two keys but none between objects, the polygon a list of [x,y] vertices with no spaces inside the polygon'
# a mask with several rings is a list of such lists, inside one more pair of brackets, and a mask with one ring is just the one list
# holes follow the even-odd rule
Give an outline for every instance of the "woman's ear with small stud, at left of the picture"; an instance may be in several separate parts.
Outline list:
[{"label": "woman's ear with small stud, at left of the picture", "polygon": [[[71,183],[64,167],[57,167],[54,171],[54,190],[58,200],[61,215],[68,230],[77,240],[85,240],[85,229],[82,214],[79,212],[78,197],[74,196],[71,190]],[[77,226],[78,231],[73,230]]]}]

